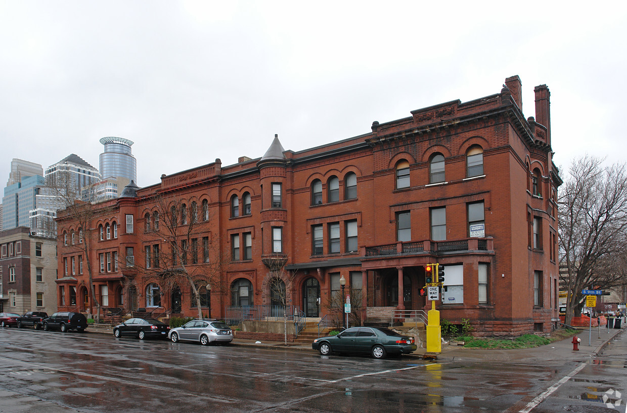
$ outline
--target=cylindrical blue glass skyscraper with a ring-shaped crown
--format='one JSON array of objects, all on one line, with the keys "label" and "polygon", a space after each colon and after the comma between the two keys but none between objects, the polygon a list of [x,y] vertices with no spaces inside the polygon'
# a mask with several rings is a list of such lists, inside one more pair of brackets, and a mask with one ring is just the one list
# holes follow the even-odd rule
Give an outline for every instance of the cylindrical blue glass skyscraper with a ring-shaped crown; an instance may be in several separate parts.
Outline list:
[{"label": "cylindrical blue glass skyscraper with a ring-shaped crown", "polygon": [[137,159],[131,154],[130,146],[134,143],[122,137],[108,136],[100,139],[105,151],[100,154],[100,176],[107,178],[126,178],[137,182]]}]

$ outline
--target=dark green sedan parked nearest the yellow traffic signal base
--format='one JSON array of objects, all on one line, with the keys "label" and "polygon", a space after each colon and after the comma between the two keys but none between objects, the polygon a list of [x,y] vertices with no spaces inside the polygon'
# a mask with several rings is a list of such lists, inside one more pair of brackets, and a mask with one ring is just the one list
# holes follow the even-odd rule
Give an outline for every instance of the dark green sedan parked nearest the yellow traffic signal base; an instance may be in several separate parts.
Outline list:
[{"label": "dark green sedan parked nearest the yellow traffic signal base", "polygon": [[417,347],[413,337],[401,335],[389,328],[352,327],[336,336],[315,339],[312,348],[322,355],[370,353],[374,358],[384,358],[388,354],[412,353]]}]

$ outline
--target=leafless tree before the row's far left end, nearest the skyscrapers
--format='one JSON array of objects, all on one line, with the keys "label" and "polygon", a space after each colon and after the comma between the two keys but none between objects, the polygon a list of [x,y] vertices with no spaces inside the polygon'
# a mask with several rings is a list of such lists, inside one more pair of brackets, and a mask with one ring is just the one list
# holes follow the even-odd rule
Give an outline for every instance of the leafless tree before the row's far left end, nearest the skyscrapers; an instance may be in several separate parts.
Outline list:
[{"label": "leafless tree before the row's far left end, nearest the skyscrapers", "polygon": [[91,191],[85,196],[87,199],[81,201],[82,194],[75,189],[70,178],[70,173],[58,173],[54,180],[46,182],[47,188],[53,193],[57,201],[65,207],[65,210],[57,212],[57,221],[68,220],[75,223],[78,233],[69,233],[64,239],[65,245],[70,245],[72,249],[81,251],[85,255],[85,266],[89,276],[89,290],[93,305],[96,307],[95,320],[100,322],[100,301],[98,301],[95,287],[93,285],[92,251],[95,240],[96,228],[93,228],[93,220],[97,213],[102,213],[103,207],[92,205],[95,202],[95,192]]}]

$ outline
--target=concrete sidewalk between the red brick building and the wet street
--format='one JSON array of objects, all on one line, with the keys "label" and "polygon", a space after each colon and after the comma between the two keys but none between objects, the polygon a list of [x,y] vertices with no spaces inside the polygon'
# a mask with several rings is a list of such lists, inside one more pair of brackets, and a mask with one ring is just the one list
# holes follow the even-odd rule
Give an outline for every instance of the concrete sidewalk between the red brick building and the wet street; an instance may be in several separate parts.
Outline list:
[{"label": "concrete sidewalk between the red brick building and the wet street", "polygon": [[[113,329],[110,326],[90,326],[88,333],[108,334],[113,336]],[[622,328],[593,328],[591,334],[589,330],[580,330],[577,337],[581,338],[579,343],[579,351],[572,350],[572,338],[567,338],[554,343],[532,348],[520,348],[515,350],[486,350],[482,348],[464,348],[461,346],[442,345],[442,351],[437,356],[438,360],[581,360],[582,358],[594,358],[598,355],[603,347],[613,340],[614,336],[623,331]],[[236,333],[237,335],[237,333]],[[295,350],[310,351],[312,350],[310,343],[295,344],[288,343],[287,346],[283,341],[264,341],[264,340],[241,340],[237,337],[233,340],[234,345],[249,346],[256,348],[266,348],[273,350]],[[426,349],[418,348],[414,353],[406,355],[406,357],[423,358]]]}]

